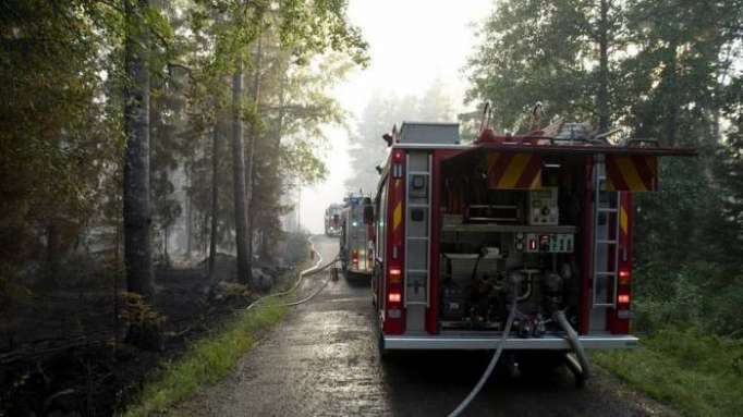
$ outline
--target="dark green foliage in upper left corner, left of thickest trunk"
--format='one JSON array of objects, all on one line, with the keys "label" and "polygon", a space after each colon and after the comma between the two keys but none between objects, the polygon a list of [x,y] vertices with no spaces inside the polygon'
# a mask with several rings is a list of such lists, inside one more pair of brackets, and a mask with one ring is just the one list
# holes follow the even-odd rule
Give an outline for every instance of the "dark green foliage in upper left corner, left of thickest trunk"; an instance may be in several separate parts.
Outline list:
[{"label": "dark green foliage in upper left corner, left of thickest trunk", "polygon": [[98,173],[120,157],[94,23],[77,2],[0,5],[0,263],[13,269],[69,249],[103,198]]}]

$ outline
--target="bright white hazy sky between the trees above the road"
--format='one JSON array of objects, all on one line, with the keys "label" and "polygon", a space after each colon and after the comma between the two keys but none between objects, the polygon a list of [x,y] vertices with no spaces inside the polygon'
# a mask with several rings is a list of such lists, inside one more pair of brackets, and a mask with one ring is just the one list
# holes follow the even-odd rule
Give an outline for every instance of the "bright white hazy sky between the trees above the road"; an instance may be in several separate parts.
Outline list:
[{"label": "bright white hazy sky between the trees above the road", "polygon": [[[462,68],[475,45],[473,23],[485,19],[491,7],[491,0],[351,0],[349,16],[369,42],[372,63],[339,85],[336,98],[355,118],[374,91],[422,96],[440,78],[462,110]],[[324,231],[325,208],[343,198],[351,172],[345,133],[329,128],[328,136],[328,180],[302,191],[302,226],[313,233]]]}]

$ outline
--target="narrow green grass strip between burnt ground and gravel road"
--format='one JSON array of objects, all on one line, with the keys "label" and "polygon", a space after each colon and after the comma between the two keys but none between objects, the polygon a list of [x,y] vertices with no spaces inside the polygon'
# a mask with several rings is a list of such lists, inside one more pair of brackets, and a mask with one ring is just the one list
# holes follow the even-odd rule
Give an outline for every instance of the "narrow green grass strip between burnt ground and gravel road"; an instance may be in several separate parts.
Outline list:
[{"label": "narrow green grass strip between burnt ground and gravel road", "polygon": [[214,384],[232,371],[258,335],[279,322],[288,307],[267,299],[249,311],[241,311],[211,336],[188,346],[183,355],[168,361],[148,381],[137,401],[124,413],[126,417],[151,416],[167,412],[199,387]]}]

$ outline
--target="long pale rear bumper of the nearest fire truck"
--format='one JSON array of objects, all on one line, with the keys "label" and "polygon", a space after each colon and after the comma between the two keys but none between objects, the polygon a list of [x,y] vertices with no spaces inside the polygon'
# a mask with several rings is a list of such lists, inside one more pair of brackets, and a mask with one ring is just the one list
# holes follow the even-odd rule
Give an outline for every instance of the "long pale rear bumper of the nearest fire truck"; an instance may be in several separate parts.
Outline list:
[{"label": "long pale rear bumper of the nearest fire truck", "polygon": [[[633,335],[582,335],[584,348],[609,349],[637,347],[637,338]],[[499,336],[476,335],[385,335],[385,349],[404,351],[488,351],[500,343]],[[568,340],[559,335],[544,338],[509,338],[503,349],[509,351],[569,351]]]}]

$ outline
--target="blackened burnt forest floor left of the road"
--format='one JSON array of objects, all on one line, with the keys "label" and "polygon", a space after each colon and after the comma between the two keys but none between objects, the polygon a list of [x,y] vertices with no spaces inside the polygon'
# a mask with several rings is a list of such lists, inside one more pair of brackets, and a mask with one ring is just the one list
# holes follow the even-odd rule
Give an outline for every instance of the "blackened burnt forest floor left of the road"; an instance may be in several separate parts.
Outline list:
[{"label": "blackened burnt forest floor left of the road", "polygon": [[[234,258],[220,255],[216,281],[234,275]],[[158,363],[257,296],[216,281],[206,279],[203,262],[156,271],[156,306],[166,320],[155,349],[121,343],[126,326],[122,320],[117,326],[112,281],[103,277],[29,292],[13,306],[12,333],[0,334],[0,417],[113,414]]]}]

